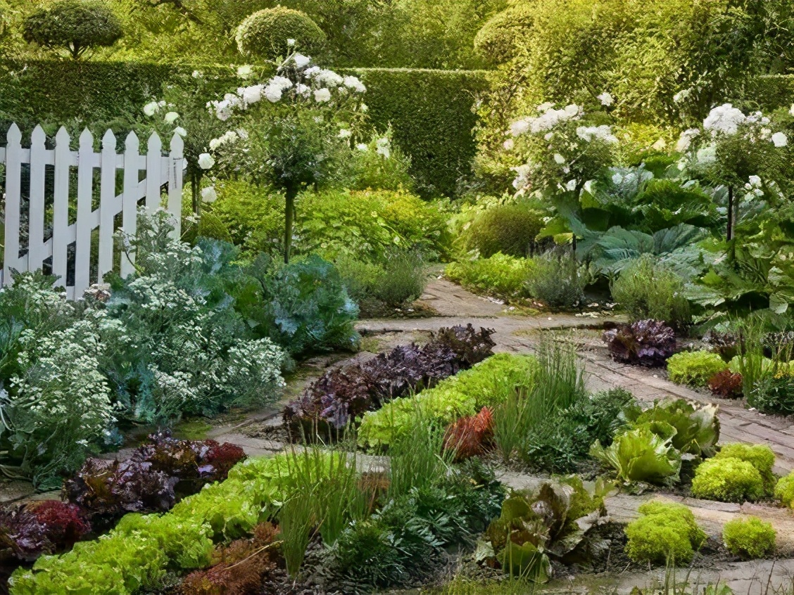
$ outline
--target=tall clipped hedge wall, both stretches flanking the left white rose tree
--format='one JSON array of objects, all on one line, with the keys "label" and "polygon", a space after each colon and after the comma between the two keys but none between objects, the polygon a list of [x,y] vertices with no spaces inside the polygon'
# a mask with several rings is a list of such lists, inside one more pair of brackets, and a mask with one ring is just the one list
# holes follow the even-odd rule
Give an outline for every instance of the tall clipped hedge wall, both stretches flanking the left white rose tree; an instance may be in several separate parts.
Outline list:
[{"label": "tall clipped hedge wall, both stretches flanking the left white rose tree", "polygon": [[[39,121],[90,121],[114,127],[159,97],[164,83],[191,85],[194,66],[138,62],[27,61],[0,63],[0,135],[10,121],[29,132]],[[201,66],[218,91],[238,83],[233,67]],[[372,122],[391,125],[395,144],[411,156],[411,174],[424,196],[455,194],[470,170],[476,144],[472,111],[488,86],[485,71],[361,68]],[[115,128],[115,127],[114,127]]]}]

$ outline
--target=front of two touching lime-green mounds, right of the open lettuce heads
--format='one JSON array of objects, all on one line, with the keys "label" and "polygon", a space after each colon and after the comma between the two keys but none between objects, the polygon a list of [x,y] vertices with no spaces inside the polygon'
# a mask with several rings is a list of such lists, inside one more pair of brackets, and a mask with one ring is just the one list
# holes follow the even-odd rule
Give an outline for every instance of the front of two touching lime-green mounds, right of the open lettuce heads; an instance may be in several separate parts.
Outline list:
[{"label": "front of two touching lime-green mounds, right of the open lettuce heads", "polygon": [[695,470],[692,495],[721,502],[752,502],[764,497],[764,480],[751,463],[742,459],[708,459]]}]

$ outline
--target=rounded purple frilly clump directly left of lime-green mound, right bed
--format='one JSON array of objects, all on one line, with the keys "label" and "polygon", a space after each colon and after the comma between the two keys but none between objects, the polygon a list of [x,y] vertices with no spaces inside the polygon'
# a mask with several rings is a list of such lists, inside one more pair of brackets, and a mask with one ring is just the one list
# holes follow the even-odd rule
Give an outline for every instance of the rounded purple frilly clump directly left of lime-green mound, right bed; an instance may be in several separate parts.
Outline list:
[{"label": "rounded purple frilly clump directly left of lime-green mound, right bed", "polygon": [[660,321],[637,321],[619,324],[603,333],[612,359],[621,363],[657,367],[676,349],[676,333]]}]

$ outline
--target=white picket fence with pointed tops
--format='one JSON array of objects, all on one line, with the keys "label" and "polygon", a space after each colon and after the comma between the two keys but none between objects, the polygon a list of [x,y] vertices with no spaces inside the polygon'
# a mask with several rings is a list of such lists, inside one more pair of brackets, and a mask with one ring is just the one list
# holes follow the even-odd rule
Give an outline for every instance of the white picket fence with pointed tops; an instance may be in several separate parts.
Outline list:
[{"label": "white picket fence with pointed tops", "polygon": [[[168,155],[163,154],[162,141],[156,134],[149,137],[145,155],[141,155],[140,142],[133,132],[127,136],[121,154],[116,152],[116,137],[110,130],[102,136],[102,151],[98,153],[94,152],[94,136],[87,129],[80,135],[78,151],[71,151],[71,139],[64,128],[58,131],[53,149],[46,148],[47,138],[40,126],[33,130],[30,148],[23,148],[21,140],[21,132],[13,124],[6,147],[0,148],[0,165],[6,166],[5,262],[0,285],[11,282],[12,269],[37,271],[46,264],[60,278],[57,285],[66,286],[69,299],[82,298],[91,283],[101,283],[114,268],[116,216],[121,213],[121,227],[134,233],[139,203],[148,210],[160,207],[166,184],[166,208],[173,215],[175,235],[179,236],[184,166],[179,135],[173,136]],[[23,165],[29,165],[29,184],[24,184],[29,189],[25,187],[28,191],[24,194],[27,177]],[[74,167],[77,183],[70,189]],[[98,189],[94,187],[97,168]],[[120,193],[119,170],[123,171]],[[141,171],[145,171],[143,179]],[[98,246],[94,255],[98,261],[92,263],[91,238],[96,228]],[[121,255],[121,276],[133,270],[133,262]]]}]

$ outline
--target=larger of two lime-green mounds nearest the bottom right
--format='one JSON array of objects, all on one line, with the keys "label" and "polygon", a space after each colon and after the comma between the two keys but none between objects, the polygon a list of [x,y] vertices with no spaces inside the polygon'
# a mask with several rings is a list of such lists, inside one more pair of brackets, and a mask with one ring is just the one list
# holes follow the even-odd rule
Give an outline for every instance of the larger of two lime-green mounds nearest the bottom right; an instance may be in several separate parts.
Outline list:
[{"label": "larger of two lime-green mounds nearest the bottom right", "polygon": [[653,500],[626,526],[626,555],[641,564],[686,563],[706,541],[692,511],[684,505]]}]

